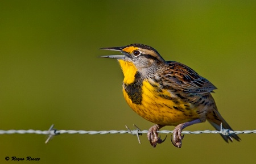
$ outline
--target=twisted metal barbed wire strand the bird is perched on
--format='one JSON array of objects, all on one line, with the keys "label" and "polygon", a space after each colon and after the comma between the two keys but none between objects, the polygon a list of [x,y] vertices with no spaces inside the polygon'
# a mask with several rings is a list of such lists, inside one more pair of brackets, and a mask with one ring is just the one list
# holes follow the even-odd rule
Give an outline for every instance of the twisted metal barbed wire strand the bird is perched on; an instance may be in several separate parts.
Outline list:
[{"label": "twisted metal barbed wire strand the bird is perched on", "polygon": [[[141,144],[141,141],[139,139],[139,136],[142,135],[142,133],[147,133],[147,130],[143,130],[141,131],[141,129],[139,129],[135,124],[134,127],[136,129],[134,130],[130,130],[127,125],[125,125],[127,130],[121,130],[121,131],[115,131],[115,130],[110,130],[110,131],[84,131],[84,130],[57,130],[57,129],[53,129],[54,124],[51,125],[51,127],[48,129],[48,131],[41,131],[41,130],[33,130],[33,129],[28,129],[28,130],[0,130],[0,134],[44,134],[44,135],[48,135],[49,137],[46,140],[46,144],[49,142],[49,140],[53,137],[53,136],[57,136],[59,134],[125,134],[125,133],[129,133],[129,134],[133,134],[136,135],[138,137],[138,141]],[[158,131],[158,133],[172,133],[173,131]],[[182,131],[181,133],[183,134],[203,134],[203,133],[212,133],[212,134],[223,134],[225,136],[230,136],[231,134],[251,134],[254,133],[256,134],[256,130],[249,130],[249,131],[230,131],[229,129],[224,129],[222,128],[222,124],[221,124],[221,128],[220,131],[209,131],[209,130],[205,130],[205,131]]]}]

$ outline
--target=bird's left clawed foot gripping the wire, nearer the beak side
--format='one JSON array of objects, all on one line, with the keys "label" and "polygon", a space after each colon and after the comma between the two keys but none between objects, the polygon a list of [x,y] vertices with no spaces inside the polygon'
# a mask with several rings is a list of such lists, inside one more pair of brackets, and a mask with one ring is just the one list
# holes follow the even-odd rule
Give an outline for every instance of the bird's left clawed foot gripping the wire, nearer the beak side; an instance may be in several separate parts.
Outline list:
[{"label": "bird's left clawed foot gripping the wire, nearer the beak side", "polygon": [[164,127],[163,125],[154,125],[152,126],[150,129],[148,129],[148,133],[147,133],[147,138],[150,141],[151,146],[153,146],[155,148],[156,144],[161,144],[163,143],[166,138],[164,138],[164,140],[162,140],[160,137],[158,137],[158,132],[160,128]]}]

